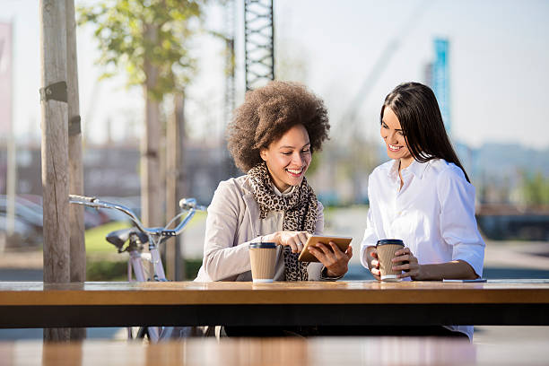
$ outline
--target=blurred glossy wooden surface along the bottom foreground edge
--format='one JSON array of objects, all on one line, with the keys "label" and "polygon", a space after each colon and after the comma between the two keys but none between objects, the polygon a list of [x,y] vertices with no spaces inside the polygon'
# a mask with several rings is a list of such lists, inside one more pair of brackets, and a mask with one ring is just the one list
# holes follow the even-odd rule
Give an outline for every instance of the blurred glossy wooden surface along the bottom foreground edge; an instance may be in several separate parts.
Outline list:
[{"label": "blurred glossy wooden surface along the bottom foreground edge", "polygon": [[423,365],[546,364],[546,345],[470,344],[442,338],[187,339],[178,343],[0,343],[3,365]]}]

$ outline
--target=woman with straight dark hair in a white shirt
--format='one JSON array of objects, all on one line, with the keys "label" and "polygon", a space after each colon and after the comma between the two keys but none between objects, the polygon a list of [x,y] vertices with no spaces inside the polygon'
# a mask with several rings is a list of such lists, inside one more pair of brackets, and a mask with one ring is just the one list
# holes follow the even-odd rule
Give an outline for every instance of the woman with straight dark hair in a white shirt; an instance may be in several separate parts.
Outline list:
[{"label": "woman with straight dark hair in a white shirt", "polygon": [[[368,181],[362,265],[380,280],[376,243],[398,239],[405,247],[396,251],[393,262],[402,263],[393,268],[404,271],[401,279],[481,277],[484,240],[476,227],[475,187],[449,141],[434,93],[421,83],[396,86],[381,107],[380,127],[391,161]],[[473,327],[446,328],[473,336]]]}]

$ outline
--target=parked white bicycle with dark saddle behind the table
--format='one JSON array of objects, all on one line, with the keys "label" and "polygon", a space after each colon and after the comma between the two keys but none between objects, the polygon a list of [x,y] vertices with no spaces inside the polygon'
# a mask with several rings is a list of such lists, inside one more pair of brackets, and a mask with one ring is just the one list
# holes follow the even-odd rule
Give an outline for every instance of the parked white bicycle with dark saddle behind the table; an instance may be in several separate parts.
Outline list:
[{"label": "parked white bicycle with dark saddle behind the table", "polygon": [[[177,237],[185,227],[187,223],[195,215],[196,211],[205,211],[206,207],[203,205],[196,205],[195,198],[183,198],[179,201],[179,207],[181,208],[173,219],[168,222],[165,227],[145,228],[143,222],[141,222],[137,215],[124,205],[118,205],[107,201],[101,201],[97,197],[88,196],[76,196],[69,195],[69,202],[74,205],[87,205],[97,209],[105,208],[111,210],[118,210],[130,218],[134,222],[135,227],[129,229],[122,229],[118,231],[112,231],[107,234],[106,240],[113,244],[118,253],[127,252],[129,259],[127,262],[127,279],[128,282],[146,282],[146,281],[168,281],[166,274],[164,273],[164,266],[162,266],[161,256],[159,252],[160,245],[169,240],[172,237]],[[179,222],[178,226],[174,229],[168,229],[173,222],[176,222],[184,214],[187,215]],[[126,245],[127,243],[127,245]],[[143,253],[145,244],[149,244],[149,252]],[[153,278],[147,278],[143,266],[143,261],[146,260],[153,265]],[[132,273],[135,274],[135,281],[132,278]],[[162,332],[166,330],[166,327],[139,327],[137,331],[137,338],[144,338],[148,336],[149,340],[156,343],[161,338]],[[128,339],[132,339],[133,332],[131,327],[127,327]]]}]

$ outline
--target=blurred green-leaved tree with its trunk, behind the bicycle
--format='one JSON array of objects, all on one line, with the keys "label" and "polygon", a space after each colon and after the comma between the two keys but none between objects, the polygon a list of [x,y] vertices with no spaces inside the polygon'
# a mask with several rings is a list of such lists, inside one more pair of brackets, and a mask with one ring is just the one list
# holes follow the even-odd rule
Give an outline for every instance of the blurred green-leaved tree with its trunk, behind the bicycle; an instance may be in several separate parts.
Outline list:
[{"label": "blurred green-leaved tree with its trunk, behind the bicycle", "polygon": [[206,0],[102,0],[78,8],[79,23],[92,23],[99,41],[101,77],[120,69],[128,85],[141,85],[145,128],[141,143],[143,221],[161,224],[159,142],[164,96],[182,93],[194,70],[187,40],[199,28]]}]

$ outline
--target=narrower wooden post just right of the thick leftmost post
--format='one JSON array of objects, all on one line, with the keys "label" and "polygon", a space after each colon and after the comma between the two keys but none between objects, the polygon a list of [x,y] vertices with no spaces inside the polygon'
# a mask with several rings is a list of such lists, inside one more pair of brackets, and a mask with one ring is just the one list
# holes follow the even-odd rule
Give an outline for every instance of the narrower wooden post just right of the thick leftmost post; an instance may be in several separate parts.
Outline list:
[{"label": "narrower wooden post just right of the thick leftmost post", "polygon": [[[83,196],[82,129],[76,57],[76,20],[74,0],[66,6],[66,86],[68,102],[69,191]],[[86,246],[84,243],[83,206],[69,205],[71,282],[86,280]],[[86,328],[71,328],[71,340],[86,337]]]}]

